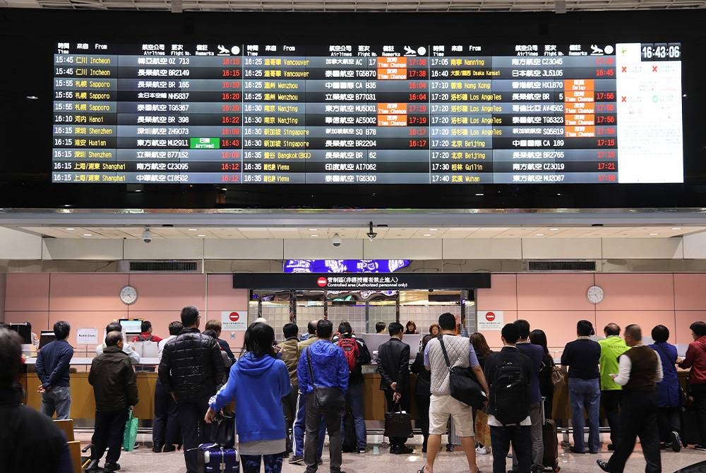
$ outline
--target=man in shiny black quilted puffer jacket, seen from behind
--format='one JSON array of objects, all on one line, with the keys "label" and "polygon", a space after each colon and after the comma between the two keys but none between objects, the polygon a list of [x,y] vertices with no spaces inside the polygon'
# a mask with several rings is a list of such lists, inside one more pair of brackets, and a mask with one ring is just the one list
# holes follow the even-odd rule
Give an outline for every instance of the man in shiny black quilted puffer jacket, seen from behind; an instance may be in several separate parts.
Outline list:
[{"label": "man in shiny black quilted puffer jacket, seen from behind", "polygon": [[181,309],[184,330],[164,345],[160,381],[177,402],[184,441],[186,472],[198,472],[199,443],[208,441],[203,414],[208,399],[222,386],[225,366],[216,339],[198,331],[201,316],[194,306]]}]

